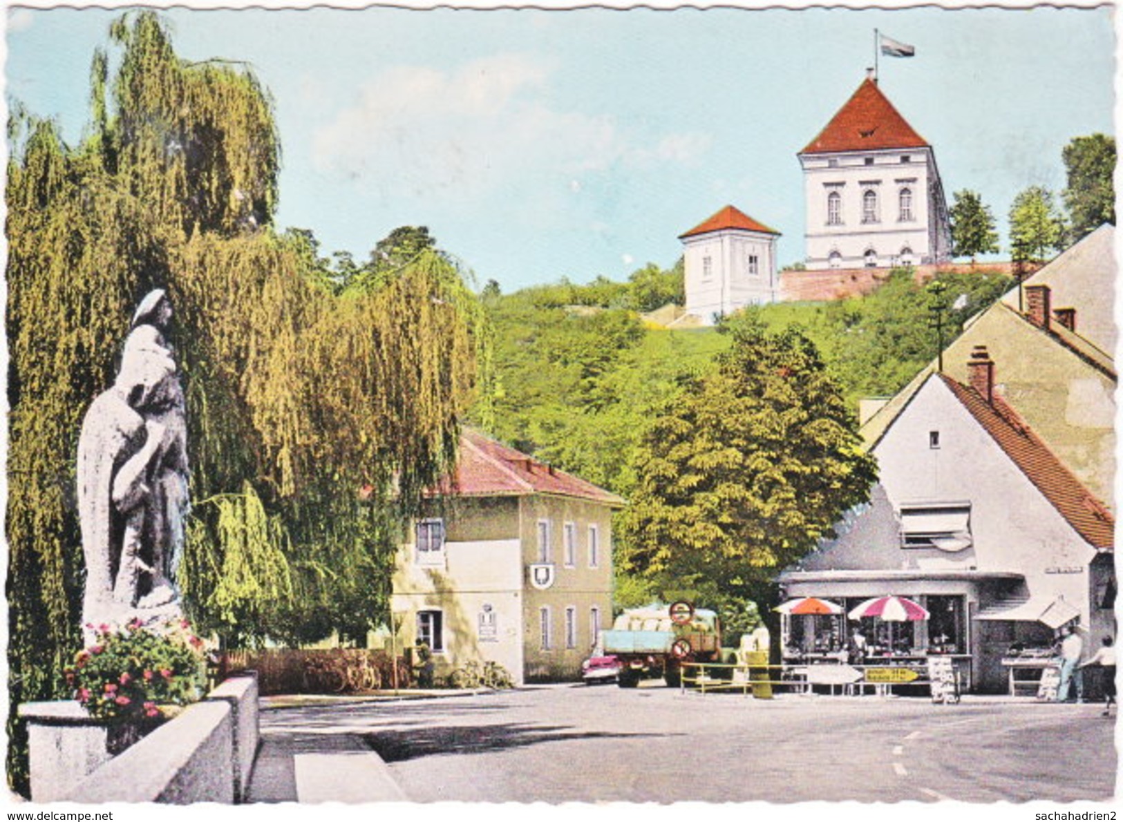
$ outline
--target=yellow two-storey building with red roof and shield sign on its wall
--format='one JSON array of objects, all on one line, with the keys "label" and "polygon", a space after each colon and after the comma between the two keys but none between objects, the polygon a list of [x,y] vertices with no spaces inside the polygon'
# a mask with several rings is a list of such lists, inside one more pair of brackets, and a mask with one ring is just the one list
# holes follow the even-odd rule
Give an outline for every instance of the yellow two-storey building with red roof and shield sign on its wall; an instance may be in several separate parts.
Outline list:
[{"label": "yellow two-storey building with red roof and shield sign on its wall", "polygon": [[424,640],[437,677],[474,660],[520,684],[578,678],[612,622],[612,512],[622,505],[465,431],[455,480],[398,552],[398,641]]}]

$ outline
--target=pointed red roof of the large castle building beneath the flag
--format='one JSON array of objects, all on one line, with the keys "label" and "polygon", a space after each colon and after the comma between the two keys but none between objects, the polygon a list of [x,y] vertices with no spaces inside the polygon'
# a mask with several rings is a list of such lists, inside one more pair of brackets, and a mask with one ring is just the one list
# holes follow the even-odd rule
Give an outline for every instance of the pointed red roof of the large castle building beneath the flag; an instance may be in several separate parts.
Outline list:
[{"label": "pointed red roof of the large castle building beneath the flag", "polygon": [[877,83],[867,77],[827,128],[800,154],[926,146],[924,138],[905,121]]}]

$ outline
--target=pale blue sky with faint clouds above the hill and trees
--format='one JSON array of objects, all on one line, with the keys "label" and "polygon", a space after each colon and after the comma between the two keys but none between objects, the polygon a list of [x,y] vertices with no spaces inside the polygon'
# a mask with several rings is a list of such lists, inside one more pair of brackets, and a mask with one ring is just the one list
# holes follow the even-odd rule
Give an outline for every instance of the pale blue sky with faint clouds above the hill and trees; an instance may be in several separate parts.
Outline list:
[{"label": "pale blue sky with faint clouds above the hill and trees", "polygon": [[[6,99],[76,141],[118,9],[9,8]],[[163,12],[186,60],[248,62],[282,141],[280,229],[365,259],[402,225],[504,292],[672,266],[727,204],[803,258],[796,154],[874,62],[933,146],[949,206],[998,220],[1065,186],[1062,147],[1114,134],[1110,8],[198,10]]]}]

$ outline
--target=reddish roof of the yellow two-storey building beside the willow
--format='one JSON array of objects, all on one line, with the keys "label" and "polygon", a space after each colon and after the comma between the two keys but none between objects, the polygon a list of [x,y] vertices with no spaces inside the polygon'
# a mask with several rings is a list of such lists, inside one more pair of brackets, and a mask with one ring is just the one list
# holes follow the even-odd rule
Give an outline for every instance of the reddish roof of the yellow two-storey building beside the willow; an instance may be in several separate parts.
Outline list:
[{"label": "reddish roof of the yellow two-storey building beside the willow", "polygon": [[460,435],[456,476],[441,483],[440,493],[457,496],[526,496],[554,494],[620,508],[624,501],[564,471],[540,463],[478,431]]}]

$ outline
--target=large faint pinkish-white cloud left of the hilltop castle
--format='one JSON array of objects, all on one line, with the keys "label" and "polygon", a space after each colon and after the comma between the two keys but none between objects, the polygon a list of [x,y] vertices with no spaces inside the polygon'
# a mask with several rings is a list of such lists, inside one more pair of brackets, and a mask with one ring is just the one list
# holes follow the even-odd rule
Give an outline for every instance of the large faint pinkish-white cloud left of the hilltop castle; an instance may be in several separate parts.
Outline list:
[{"label": "large faint pinkish-white cloud left of the hilltop castle", "polygon": [[390,68],[316,133],[313,162],[382,197],[465,198],[544,176],[577,180],[620,163],[684,162],[709,146],[697,135],[642,145],[611,115],[551,108],[544,99],[553,70],[526,54],[453,72]]}]

